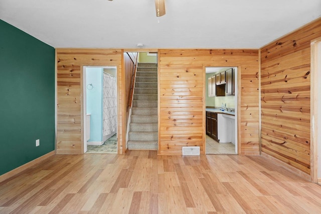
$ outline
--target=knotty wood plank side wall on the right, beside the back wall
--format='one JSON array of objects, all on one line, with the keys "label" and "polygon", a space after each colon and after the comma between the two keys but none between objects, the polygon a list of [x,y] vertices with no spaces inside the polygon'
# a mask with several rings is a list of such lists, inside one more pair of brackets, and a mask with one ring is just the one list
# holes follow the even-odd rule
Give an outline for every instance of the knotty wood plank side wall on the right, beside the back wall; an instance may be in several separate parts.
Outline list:
[{"label": "knotty wood plank side wall on the right, beside the back wall", "polygon": [[262,152],[310,174],[310,43],[315,20],[261,48]]}]

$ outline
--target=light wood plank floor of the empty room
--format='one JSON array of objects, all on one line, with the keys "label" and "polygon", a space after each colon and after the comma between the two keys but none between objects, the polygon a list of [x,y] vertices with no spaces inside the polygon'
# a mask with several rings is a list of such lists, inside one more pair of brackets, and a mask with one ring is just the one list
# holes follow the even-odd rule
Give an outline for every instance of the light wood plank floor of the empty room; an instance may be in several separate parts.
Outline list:
[{"label": "light wood plank floor of the empty room", "polygon": [[262,156],[55,155],[0,183],[0,213],[320,213],[321,186]]}]

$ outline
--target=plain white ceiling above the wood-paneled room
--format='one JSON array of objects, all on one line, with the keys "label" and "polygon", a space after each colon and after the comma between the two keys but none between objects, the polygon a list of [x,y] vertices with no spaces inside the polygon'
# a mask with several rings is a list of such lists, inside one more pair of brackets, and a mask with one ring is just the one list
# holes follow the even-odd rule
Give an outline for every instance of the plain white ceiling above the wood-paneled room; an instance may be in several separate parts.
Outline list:
[{"label": "plain white ceiling above the wood-paneled room", "polygon": [[54,48],[260,48],[320,16],[320,0],[166,0],[159,18],[154,0],[0,0]]}]

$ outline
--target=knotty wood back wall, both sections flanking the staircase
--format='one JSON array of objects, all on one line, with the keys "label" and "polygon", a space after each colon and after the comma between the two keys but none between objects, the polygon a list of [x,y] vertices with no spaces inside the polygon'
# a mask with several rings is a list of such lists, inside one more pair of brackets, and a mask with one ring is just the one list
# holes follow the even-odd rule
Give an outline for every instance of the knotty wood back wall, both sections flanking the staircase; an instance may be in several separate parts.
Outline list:
[{"label": "knotty wood back wall, both sections flanking the staircase", "polygon": [[[119,153],[126,130],[121,50],[57,50],[57,153],[82,152],[82,66],[117,66]],[[205,145],[205,66],[238,67],[239,154],[259,153],[258,50],[159,50],[159,154]],[[123,81],[122,81],[123,80]]]}]

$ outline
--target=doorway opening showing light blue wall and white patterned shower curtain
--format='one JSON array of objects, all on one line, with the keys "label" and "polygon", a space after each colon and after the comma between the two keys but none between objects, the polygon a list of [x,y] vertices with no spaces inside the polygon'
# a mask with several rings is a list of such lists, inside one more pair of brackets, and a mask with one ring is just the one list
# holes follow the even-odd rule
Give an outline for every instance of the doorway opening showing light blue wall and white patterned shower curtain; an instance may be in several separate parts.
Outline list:
[{"label": "doorway opening showing light blue wall and white patterned shower curtain", "polygon": [[83,72],[84,153],[117,153],[117,67]]}]

